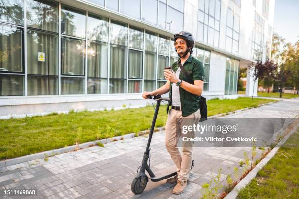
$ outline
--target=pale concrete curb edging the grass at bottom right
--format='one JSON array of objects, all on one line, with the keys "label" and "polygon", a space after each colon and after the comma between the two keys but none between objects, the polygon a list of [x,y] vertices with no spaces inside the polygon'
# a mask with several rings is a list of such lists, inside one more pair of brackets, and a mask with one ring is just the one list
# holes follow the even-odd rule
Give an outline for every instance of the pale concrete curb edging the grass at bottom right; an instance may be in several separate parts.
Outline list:
[{"label": "pale concrete curb edging the grass at bottom right", "polygon": [[253,170],[251,170],[245,178],[243,178],[236,186],[235,188],[228,194],[224,199],[236,199],[239,191],[246,187],[252,179],[254,179],[259,172],[269,161],[273,158],[273,156],[277,153],[278,149],[286,142],[286,140],[289,139],[291,135],[297,130],[299,127],[299,123],[288,133],[287,136],[284,137],[277,145],[274,147],[264,159],[262,159]]}]

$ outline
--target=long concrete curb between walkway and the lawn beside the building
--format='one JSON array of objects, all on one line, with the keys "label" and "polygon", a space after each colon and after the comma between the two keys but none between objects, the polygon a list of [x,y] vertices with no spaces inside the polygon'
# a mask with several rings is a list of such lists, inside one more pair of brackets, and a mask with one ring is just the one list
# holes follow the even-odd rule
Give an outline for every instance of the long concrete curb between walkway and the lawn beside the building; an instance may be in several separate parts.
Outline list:
[{"label": "long concrete curb between walkway and the lawn beside the building", "polygon": [[[259,106],[263,106],[263,105],[267,105],[267,104],[271,104],[271,103],[276,103],[276,102],[278,102],[278,101],[273,101],[273,102],[269,102],[269,103],[260,104]],[[208,118],[218,118],[218,117],[221,117],[221,116],[246,111],[248,109],[250,109],[250,108],[244,108],[244,109],[239,109],[239,110],[236,110],[236,111],[228,112],[228,113],[225,113],[225,114],[218,114],[218,115],[214,115],[214,116],[209,116]],[[164,127],[160,127],[160,128],[157,128],[157,131],[162,131],[164,129],[165,129]],[[138,136],[142,136],[146,133],[149,133],[149,130],[139,132]],[[44,157],[50,157],[50,156],[54,156],[54,155],[57,155],[57,154],[71,152],[71,151],[74,151],[76,148],[79,148],[79,149],[88,148],[91,145],[97,145],[98,142],[101,142],[102,144],[105,144],[107,142],[117,141],[117,140],[121,140],[121,139],[128,139],[128,138],[132,138],[132,137],[135,137],[135,133],[129,133],[129,134],[125,134],[125,135],[122,135],[122,136],[116,136],[116,137],[113,137],[113,138],[86,142],[86,143],[79,144],[78,146],[77,145],[67,146],[67,147],[63,147],[63,148],[59,148],[59,149],[54,149],[54,150],[44,151],[44,152],[30,154],[30,155],[26,155],[26,156],[21,156],[21,157],[17,157],[17,158],[13,158],[13,159],[7,159],[7,160],[4,160],[4,161],[0,161],[0,168],[11,166],[11,165],[14,165],[14,164],[20,164],[20,163],[27,162],[27,161],[32,161],[32,160],[35,160],[35,159],[41,159],[41,158],[44,158]]]}]

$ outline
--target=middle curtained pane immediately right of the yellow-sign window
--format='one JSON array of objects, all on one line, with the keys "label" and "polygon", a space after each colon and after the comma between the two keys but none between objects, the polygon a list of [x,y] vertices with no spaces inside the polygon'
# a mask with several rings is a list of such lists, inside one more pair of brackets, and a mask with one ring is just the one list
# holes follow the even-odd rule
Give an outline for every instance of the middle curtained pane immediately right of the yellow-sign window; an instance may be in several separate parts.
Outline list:
[{"label": "middle curtained pane immediately right of the yellow-sign window", "polygon": [[85,41],[61,38],[61,74],[85,75]]}]

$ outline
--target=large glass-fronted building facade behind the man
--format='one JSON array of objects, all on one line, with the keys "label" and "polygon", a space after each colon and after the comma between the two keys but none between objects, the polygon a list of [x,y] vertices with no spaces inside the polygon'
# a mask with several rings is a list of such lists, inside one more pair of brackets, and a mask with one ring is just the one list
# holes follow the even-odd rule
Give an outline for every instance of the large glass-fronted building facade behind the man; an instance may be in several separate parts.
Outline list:
[{"label": "large glass-fronted building facade behind the man", "polygon": [[140,96],[166,83],[182,30],[195,36],[204,92],[234,95],[242,62],[270,58],[273,1],[1,0],[0,99]]}]

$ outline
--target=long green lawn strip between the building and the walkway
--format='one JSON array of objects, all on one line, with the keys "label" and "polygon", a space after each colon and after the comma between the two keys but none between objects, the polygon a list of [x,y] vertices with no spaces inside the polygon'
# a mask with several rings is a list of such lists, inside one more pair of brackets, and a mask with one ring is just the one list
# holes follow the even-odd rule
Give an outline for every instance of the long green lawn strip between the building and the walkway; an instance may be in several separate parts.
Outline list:
[{"label": "long green lawn strip between the building and the walkway", "polygon": [[[256,107],[275,100],[240,97],[235,100],[207,101],[208,116]],[[166,106],[161,106],[157,127],[165,125]],[[37,152],[106,139],[150,128],[154,109],[125,109],[118,111],[82,111],[51,114],[23,119],[0,120],[0,160]]]}]

